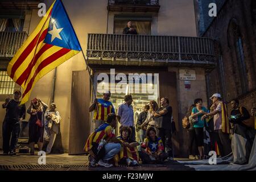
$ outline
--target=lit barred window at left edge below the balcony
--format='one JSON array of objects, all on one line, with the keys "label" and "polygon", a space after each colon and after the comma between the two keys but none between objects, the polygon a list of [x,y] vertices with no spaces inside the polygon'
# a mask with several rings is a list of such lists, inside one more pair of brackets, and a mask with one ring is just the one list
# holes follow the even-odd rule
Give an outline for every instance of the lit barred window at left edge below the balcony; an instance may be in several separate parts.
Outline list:
[{"label": "lit barred window at left edge below the balcony", "polygon": [[0,94],[13,94],[15,82],[7,75],[6,71],[0,71]]}]

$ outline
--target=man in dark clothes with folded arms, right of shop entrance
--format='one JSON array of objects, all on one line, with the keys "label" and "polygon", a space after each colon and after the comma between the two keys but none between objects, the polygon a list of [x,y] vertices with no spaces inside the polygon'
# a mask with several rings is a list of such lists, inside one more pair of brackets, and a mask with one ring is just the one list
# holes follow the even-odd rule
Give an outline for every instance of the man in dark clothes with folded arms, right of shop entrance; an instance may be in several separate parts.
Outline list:
[{"label": "man in dark clothes with folded arms, right of shop entrance", "polygon": [[158,118],[159,137],[163,141],[163,146],[168,147],[168,155],[172,156],[172,107],[169,105],[167,97],[160,100],[161,107],[154,113]]}]

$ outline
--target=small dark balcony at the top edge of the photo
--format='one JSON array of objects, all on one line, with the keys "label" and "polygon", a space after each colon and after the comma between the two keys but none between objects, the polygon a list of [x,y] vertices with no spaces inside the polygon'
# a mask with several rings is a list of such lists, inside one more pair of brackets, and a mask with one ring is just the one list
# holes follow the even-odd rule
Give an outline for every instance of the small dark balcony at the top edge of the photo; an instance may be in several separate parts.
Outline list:
[{"label": "small dark balcony at the top edge of the photo", "polygon": [[108,10],[119,12],[158,13],[159,0],[109,0]]}]

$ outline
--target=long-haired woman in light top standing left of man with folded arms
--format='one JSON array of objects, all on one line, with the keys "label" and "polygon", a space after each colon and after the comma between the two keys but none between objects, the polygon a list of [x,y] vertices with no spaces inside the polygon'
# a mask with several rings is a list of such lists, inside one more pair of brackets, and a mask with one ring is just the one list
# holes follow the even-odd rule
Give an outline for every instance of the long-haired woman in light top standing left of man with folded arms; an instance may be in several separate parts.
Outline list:
[{"label": "long-haired woman in light top standing left of man with folded arms", "polygon": [[154,127],[155,131],[156,131],[156,135],[158,135],[158,129],[156,128],[156,125],[158,124],[157,118],[154,117],[155,112],[159,109],[158,104],[156,103],[156,101],[150,101],[150,110],[147,113],[147,118],[146,120],[142,123],[141,128],[143,128],[143,126],[147,125],[147,129],[150,127]]}]

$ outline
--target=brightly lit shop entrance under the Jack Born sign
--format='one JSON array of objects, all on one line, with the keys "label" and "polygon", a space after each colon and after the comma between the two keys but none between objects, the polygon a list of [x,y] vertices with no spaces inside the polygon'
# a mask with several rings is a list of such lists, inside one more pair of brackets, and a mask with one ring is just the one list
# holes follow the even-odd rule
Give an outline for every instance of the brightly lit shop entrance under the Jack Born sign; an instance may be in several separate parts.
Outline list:
[{"label": "brightly lit shop entrance under the Jack Born sign", "polygon": [[[143,111],[144,105],[151,100],[159,103],[159,78],[158,73],[118,73],[108,75],[97,75],[97,98],[102,97],[105,90],[110,90],[112,96],[110,101],[113,103],[115,113],[119,105],[127,94],[133,96],[134,124],[137,122],[139,113]],[[119,135],[119,123],[115,134]],[[137,138],[138,140],[138,138]]]}]

